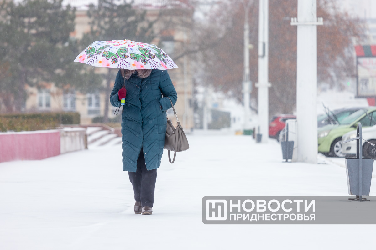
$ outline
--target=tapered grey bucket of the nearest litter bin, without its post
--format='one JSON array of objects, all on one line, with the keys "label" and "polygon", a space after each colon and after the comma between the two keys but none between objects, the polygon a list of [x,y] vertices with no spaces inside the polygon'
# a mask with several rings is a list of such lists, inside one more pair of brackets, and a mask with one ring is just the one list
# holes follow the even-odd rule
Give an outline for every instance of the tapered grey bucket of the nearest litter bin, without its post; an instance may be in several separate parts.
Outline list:
[{"label": "tapered grey bucket of the nearest litter bin, without its post", "polygon": [[[359,160],[346,158],[347,188],[349,195],[359,194]],[[370,195],[373,159],[362,159],[362,195]]]}]

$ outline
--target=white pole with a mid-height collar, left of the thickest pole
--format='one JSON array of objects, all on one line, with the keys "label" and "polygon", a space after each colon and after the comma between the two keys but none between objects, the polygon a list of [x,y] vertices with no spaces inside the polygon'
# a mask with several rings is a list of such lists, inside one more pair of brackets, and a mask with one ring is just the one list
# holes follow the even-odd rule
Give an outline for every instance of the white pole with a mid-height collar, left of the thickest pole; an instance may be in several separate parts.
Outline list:
[{"label": "white pole with a mid-height collar, left of the thickest pole", "polygon": [[259,39],[258,39],[258,122],[261,142],[269,138],[269,77],[268,77],[268,39],[269,39],[269,1],[259,0]]}]

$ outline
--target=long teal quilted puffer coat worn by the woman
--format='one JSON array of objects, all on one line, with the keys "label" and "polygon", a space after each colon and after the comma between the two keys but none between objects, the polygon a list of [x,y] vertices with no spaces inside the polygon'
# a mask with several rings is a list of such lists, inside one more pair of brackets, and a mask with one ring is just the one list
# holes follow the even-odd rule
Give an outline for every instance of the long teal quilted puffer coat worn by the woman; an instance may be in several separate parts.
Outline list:
[{"label": "long teal quilted puffer coat worn by the woman", "polygon": [[[111,92],[112,106],[120,106],[118,91],[124,78],[119,70]],[[166,133],[166,110],[177,100],[177,93],[167,70],[153,69],[146,78],[137,72],[125,80],[127,95],[121,113],[123,141],[123,170],[136,172],[137,159],[144,151],[146,169],[157,169],[161,165]],[[162,97],[163,96],[163,97]]]}]

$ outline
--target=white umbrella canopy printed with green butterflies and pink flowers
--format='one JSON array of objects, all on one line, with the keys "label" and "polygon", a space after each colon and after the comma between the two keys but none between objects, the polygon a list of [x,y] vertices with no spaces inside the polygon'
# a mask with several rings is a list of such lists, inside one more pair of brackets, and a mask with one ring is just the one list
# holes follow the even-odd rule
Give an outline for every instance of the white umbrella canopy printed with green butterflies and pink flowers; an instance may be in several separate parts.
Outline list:
[{"label": "white umbrella canopy printed with green butterflies and pink flowers", "polygon": [[132,40],[96,41],[74,61],[118,69],[176,69],[174,61],[154,44]]}]

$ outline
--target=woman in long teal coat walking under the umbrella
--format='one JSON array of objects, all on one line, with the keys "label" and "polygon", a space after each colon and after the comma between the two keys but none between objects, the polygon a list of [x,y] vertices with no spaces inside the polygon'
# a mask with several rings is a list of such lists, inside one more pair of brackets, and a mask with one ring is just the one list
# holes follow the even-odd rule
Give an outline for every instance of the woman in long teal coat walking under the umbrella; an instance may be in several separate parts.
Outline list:
[{"label": "woman in long teal coat walking under the umbrella", "polygon": [[[168,98],[167,98],[168,97]],[[120,69],[110,95],[121,112],[123,171],[128,171],[135,193],[136,214],[152,214],[157,168],[161,165],[167,124],[166,110],[177,93],[167,70]]]}]

